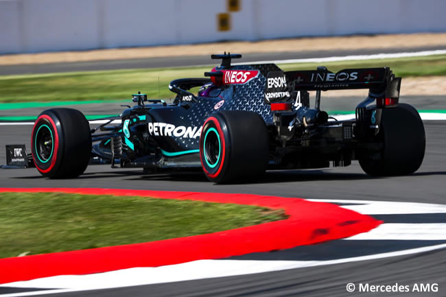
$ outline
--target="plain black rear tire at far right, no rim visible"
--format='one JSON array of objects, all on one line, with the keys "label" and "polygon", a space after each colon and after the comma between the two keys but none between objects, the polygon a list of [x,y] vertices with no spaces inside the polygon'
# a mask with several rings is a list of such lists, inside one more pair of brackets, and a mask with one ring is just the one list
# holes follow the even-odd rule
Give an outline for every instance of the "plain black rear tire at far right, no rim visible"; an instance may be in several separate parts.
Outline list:
[{"label": "plain black rear tire at far right, no rim visible", "polygon": [[419,113],[409,104],[382,110],[377,141],[384,147],[381,159],[359,158],[362,169],[371,176],[412,174],[423,163],[425,131]]}]

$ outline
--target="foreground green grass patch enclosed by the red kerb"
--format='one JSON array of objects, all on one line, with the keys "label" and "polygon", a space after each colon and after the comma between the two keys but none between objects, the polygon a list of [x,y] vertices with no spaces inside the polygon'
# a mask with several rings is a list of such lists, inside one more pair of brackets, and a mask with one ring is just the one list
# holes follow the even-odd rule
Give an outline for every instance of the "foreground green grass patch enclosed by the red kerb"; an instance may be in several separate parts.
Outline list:
[{"label": "foreground green grass patch enclosed by the red kerb", "polygon": [[284,219],[258,206],[62,193],[0,193],[0,258],[213,233]]}]

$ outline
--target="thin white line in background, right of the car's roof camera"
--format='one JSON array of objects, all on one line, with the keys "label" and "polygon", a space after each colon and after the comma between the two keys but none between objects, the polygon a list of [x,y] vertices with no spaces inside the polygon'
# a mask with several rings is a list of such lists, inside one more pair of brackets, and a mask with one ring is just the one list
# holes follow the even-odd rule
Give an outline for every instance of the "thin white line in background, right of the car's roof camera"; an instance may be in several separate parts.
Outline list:
[{"label": "thin white line in background, right of the car's roof camera", "polygon": [[[391,58],[410,58],[423,57],[433,55],[444,55],[446,49],[438,49],[436,51],[408,51],[395,54],[374,54],[374,55],[356,55],[356,56],[335,56],[327,58],[306,58],[306,59],[288,59],[288,60],[270,60],[249,62],[249,64],[292,64],[292,63],[321,63],[321,62],[338,62],[338,61],[357,61],[357,60],[375,60],[375,59],[391,59]],[[233,65],[243,65],[244,63],[235,63]]]}]

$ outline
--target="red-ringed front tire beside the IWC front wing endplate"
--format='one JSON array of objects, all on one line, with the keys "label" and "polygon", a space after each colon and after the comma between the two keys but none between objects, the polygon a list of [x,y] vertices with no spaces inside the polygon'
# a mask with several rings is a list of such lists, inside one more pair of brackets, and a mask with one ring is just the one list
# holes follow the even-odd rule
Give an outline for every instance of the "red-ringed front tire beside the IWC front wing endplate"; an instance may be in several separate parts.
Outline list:
[{"label": "red-ringed front tire beside the IWC front wing endplate", "polygon": [[90,161],[91,132],[82,112],[54,108],[42,112],[32,129],[32,158],[47,178],[75,178]]}]

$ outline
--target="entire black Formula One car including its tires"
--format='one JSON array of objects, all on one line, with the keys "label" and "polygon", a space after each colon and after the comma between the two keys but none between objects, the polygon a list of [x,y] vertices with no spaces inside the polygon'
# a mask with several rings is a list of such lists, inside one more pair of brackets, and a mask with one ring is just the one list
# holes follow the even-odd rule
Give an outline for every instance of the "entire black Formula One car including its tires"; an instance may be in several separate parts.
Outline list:
[{"label": "entire black Formula One car including its tires", "polygon": [[[255,180],[267,169],[347,166],[352,160],[372,176],[419,169],[423,121],[414,107],[399,104],[401,78],[390,69],[282,71],[275,64],[231,65],[239,54],[211,58],[222,63],[206,78],[169,84],[176,93],[172,104],[138,93],[132,108],[95,128],[78,110],[45,110],[32,131],[38,171],[72,178],[89,163],[108,160],[146,171],[202,168],[212,182],[231,182]],[[351,88],[369,90],[355,119],[337,121],[320,110],[321,91]],[[308,91],[316,91],[314,108]],[[113,121],[119,125],[110,126]]]}]

